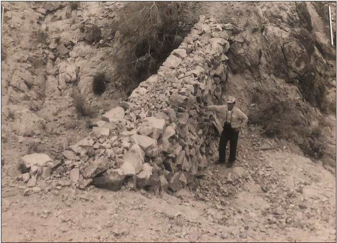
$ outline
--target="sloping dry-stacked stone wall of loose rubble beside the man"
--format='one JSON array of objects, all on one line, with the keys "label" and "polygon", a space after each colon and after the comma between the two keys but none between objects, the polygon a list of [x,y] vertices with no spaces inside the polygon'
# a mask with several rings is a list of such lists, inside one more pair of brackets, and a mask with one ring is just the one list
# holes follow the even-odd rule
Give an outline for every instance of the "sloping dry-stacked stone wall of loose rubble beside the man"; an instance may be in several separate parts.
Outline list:
[{"label": "sloping dry-stacked stone wall of loose rubble beside the man", "polygon": [[28,179],[40,175],[48,184],[62,177],[73,187],[113,191],[123,185],[177,191],[192,183],[217,154],[214,135],[221,126],[202,107],[218,104],[222,95],[232,29],[201,16],[128,102],[102,115],[89,137],[69,146],[56,163],[40,163]]}]

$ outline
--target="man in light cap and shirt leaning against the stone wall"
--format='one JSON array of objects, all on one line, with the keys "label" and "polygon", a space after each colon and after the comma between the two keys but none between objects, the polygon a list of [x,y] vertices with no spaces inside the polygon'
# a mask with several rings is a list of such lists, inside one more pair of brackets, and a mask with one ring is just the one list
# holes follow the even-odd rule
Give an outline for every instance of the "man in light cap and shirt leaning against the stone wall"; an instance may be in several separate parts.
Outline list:
[{"label": "man in light cap and shirt leaning against the stone wall", "polygon": [[219,160],[216,164],[226,163],[226,145],[230,141],[230,158],[227,167],[231,168],[236,160],[236,146],[238,144],[240,127],[246,126],[248,117],[238,108],[234,107],[235,97],[227,98],[227,105],[210,105],[207,110],[218,112],[225,122],[219,143]]}]

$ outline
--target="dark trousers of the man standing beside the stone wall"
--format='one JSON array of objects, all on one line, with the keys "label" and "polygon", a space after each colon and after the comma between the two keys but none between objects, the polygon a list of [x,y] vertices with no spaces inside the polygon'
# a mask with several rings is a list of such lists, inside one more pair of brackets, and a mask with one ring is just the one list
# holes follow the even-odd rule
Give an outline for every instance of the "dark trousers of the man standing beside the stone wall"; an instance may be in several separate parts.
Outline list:
[{"label": "dark trousers of the man standing beside the stone wall", "polygon": [[230,158],[229,163],[236,160],[236,146],[238,144],[239,129],[231,128],[231,125],[225,124],[220,137],[219,143],[219,163],[226,163],[226,145],[230,141]]}]

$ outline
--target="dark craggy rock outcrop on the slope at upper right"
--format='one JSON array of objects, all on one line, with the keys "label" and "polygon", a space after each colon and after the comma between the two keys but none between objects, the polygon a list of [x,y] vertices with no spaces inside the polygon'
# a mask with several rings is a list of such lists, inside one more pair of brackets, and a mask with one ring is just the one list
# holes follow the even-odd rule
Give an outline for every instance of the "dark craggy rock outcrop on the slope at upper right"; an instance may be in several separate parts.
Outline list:
[{"label": "dark craggy rock outcrop on the slope at upper right", "polygon": [[274,75],[297,85],[314,107],[332,111],[335,102],[326,87],[335,79],[329,78],[325,59],[335,60],[336,52],[314,3],[289,2],[276,7],[264,2],[255,5],[250,18],[243,31],[230,37],[231,71],[249,70],[264,82],[269,79],[264,74]]}]

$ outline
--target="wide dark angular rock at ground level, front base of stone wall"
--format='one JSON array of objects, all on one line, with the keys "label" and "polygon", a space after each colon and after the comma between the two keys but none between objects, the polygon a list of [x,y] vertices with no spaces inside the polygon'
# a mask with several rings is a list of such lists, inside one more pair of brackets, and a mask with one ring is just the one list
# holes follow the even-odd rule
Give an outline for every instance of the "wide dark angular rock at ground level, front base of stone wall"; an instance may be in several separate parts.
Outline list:
[{"label": "wide dark angular rock at ground level, front base of stone wall", "polygon": [[91,185],[117,192],[121,190],[124,179],[125,175],[120,175],[117,171],[111,171],[108,175],[93,178]]}]

